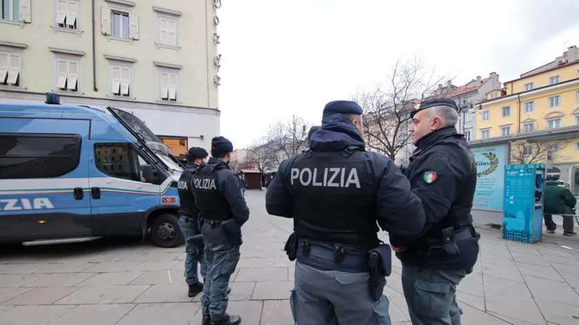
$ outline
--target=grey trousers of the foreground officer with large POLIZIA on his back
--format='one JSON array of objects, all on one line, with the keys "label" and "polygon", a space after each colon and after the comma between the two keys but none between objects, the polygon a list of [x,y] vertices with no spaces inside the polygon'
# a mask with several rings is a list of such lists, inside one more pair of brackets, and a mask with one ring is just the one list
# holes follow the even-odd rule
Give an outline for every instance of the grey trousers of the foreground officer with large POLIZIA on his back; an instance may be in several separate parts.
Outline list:
[{"label": "grey trousers of the foreground officer with large POLIZIA on his back", "polygon": [[390,325],[388,298],[370,297],[368,272],[322,271],[296,262],[290,306],[298,325]]}]

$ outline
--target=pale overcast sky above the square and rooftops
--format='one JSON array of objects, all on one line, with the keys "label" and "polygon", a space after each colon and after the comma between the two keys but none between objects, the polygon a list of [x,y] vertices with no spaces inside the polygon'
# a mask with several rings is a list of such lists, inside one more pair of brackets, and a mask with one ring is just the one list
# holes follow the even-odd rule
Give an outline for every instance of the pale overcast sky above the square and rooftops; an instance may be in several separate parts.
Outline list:
[{"label": "pale overcast sky above the square and rooftops", "polygon": [[[222,0],[221,135],[241,148],[292,114],[383,82],[420,56],[463,85],[500,81],[579,46],[579,0]],[[567,43],[565,43],[567,42]]]}]

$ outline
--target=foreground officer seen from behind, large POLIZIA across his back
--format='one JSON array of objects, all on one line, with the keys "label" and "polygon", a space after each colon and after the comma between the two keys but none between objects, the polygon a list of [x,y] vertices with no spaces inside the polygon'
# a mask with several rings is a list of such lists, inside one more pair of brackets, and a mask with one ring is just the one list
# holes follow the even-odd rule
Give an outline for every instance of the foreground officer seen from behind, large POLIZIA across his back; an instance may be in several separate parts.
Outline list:
[{"label": "foreground officer seen from behind, large POLIZIA across his back", "polygon": [[378,225],[398,235],[392,244],[407,245],[425,223],[400,169],[365,151],[362,113],[352,101],[328,103],[309,149],[284,160],[267,188],[267,212],[294,219],[285,250],[297,259],[297,324],[390,324],[383,289],[392,260]]}]

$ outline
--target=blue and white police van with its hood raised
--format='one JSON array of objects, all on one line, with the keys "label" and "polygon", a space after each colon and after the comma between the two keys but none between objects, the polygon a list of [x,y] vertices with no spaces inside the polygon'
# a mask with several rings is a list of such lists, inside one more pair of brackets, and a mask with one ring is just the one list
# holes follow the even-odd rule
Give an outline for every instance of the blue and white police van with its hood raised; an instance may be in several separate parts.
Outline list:
[{"label": "blue and white police van with its hood raised", "polygon": [[132,114],[59,101],[0,103],[0,242],[182,244],[183,166],[170,150]]}]

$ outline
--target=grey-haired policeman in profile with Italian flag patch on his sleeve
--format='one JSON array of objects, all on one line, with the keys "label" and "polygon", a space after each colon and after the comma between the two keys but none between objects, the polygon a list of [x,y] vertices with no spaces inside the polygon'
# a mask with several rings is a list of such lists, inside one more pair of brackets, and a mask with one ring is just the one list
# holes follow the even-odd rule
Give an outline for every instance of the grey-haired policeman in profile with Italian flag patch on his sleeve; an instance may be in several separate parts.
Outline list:
[{"label": "grey-haired policeman in profile with Italian flag patch on his sleeve", "polygon": [[[458,107],[448,98],[425,101],[412,116],[416,150],[405,175],[422,200],[427,224],[421,239],[394,248],[412,324],[460,324],[456,286],[473,270],[478,240],[471,208],[476,165],[463,134]],[[396,234],[390,234],[396,240]]]}]

